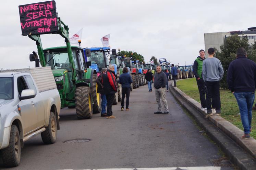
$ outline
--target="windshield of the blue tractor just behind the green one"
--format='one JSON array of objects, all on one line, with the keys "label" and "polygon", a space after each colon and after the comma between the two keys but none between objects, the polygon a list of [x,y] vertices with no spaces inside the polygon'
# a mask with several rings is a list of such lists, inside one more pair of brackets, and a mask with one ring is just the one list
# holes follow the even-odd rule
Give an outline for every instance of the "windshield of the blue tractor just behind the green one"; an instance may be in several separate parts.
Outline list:
[{"label": "windshield of the blue tractor just behind the green one", "polygon": [[97,64],[99,70],[105,66],[104,54],[101,51],[91,51],[91,56],[87,57],[87,61],[90,61],[92,64]]}]

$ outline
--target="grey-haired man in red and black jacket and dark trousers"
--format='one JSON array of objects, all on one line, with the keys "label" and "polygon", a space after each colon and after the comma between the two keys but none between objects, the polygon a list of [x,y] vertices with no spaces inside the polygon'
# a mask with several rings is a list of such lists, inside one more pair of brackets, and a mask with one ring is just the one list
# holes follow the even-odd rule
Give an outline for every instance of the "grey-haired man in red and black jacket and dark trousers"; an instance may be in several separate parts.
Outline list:
[{"label": "grey-haired man in red and black jacket and dark trousers", "polygon": [[117,92],[117,79],[115,78],[115,68],[113,65],[109,65],[109,69],[102,75],[102,83],[104,93],[107,98],[107,117],[106,118],[115,118],[112,112],[112,104]]}]

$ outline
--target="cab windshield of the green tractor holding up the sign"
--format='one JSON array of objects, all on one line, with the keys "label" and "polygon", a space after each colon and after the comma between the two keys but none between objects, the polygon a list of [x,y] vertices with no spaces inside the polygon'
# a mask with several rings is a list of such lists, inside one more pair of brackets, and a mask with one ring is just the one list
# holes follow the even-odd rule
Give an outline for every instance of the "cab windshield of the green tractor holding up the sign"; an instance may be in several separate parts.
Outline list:
[{"label": "cab windshield of the green tractor holding up the sign", "polygon": [[[78,60],[75,50],[72,50],[72,57],[75,64],[75,69],[78,70]],[[69,62],[68,52],[66,51],[45,53],[45,58],[47,61],[47,66],[50,66],[52,70],[58,68],[64,68],[68,71],[72,70]]]}]

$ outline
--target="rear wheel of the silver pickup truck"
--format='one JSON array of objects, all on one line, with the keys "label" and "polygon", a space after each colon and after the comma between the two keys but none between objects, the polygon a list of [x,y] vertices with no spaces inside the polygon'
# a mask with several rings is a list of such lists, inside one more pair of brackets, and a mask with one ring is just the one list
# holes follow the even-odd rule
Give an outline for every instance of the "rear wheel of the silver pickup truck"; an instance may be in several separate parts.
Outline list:
[{"label": "rear wheel of the silver pickup truck", "polygon": [[41,138],[45,144],[53,144],[57,139],[57,121],[53,112],[50,113],[49,125],[41,133]]}]

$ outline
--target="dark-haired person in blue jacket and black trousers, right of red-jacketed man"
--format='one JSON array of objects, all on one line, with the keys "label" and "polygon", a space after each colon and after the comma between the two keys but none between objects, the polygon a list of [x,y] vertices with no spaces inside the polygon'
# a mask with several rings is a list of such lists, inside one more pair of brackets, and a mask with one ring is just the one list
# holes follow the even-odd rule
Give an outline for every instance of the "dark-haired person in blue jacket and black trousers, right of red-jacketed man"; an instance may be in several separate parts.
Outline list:
[{"label": "dark-haired person in blue jacket and black trousers, right of red-jacketed man", "polygon": [[132,77],[128,73],[129,70],[127,67],[123,68],[123,74],[120,75],[118,83],[122,84],[122,101],[121,101],[121,111],[124,110],[124,97],[126,95],[126,105],[125,105],[125,111],[130,111],[129,109],[129,97],[130,97],[130,91],[131,91],[131,83],[132,83]]}]

